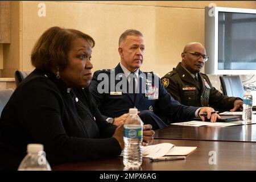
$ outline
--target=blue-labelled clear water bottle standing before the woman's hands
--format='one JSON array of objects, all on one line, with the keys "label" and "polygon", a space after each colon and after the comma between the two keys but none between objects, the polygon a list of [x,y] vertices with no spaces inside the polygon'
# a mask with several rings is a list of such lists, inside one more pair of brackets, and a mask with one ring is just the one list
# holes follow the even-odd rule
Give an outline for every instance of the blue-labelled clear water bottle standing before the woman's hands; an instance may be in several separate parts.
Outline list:
[{"label": "blue-labelled clear water bottle standing before the woman's hands", "polygon": [[137,168],[142,164],[143,122],[137,111],[138,109],[129,109],[129,115],[123,124],[123,165],[127,168]]}]

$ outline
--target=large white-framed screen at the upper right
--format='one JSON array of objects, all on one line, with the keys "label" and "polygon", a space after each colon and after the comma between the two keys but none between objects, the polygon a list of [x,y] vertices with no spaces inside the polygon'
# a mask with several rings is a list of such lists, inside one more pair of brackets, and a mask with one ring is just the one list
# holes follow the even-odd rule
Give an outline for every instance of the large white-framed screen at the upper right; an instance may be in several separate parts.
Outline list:
[{"label": "large white-framed screen at the upper right", "polygon": [[205,73],[254,75],[256,73],[256,10],[205,8]]}]

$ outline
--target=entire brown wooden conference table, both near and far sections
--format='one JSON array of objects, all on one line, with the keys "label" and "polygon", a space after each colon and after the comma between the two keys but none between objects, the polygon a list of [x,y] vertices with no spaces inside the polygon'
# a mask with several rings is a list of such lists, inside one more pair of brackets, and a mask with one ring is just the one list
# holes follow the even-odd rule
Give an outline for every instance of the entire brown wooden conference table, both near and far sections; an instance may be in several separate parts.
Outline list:
[{"label": "entire brown wooden conference table, both near and far sections", "polygon": [[[170,125],[156,130],[154,143],[172,143],[175,146],[195,146],[196,151],[185,160],[150,162],[143,158],[141,170],[256,170],[256,124],[228,127]],[[213,152],[213,153],[211,153]],[[210,158],[216,156],[216,163]],[[66,163],[53,170],[124,171],[122,157]]]}]

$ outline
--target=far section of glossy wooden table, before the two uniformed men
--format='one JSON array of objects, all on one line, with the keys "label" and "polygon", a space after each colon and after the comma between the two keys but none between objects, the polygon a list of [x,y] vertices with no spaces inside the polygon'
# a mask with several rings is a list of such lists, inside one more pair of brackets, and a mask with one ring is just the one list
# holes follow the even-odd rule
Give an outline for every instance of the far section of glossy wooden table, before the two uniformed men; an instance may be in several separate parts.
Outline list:
[{"label": "far section of glossy wooden table, before the two uniformed men", "polygon": [[211,126],[177,126],[170,125],[164,129],[155,130],[155,139],[185,139],[210,140],[230,142],[256,142],[256,115],[249,125],[227,127]]}]

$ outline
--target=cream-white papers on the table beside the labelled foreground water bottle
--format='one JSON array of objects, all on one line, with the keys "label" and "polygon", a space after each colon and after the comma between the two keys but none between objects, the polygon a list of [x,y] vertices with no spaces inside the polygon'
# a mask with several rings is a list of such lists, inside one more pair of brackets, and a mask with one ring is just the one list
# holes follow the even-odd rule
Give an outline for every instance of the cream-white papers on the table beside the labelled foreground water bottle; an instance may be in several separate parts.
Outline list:
[{"label": "cream-white papers on the table beside the labelled foreground water bottle", "polygon": [[159,143],[151,146],[142,146],[143,158],[160,158],[162,156],[188,155],[197,147],[178,147],[171,143]]}]

